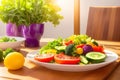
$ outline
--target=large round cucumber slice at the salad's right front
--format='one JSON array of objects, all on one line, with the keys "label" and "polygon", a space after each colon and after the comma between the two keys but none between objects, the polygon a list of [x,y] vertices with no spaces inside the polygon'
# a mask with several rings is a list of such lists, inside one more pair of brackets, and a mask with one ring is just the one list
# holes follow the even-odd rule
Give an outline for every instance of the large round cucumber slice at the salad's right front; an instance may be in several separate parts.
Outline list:
[{"label": "large round cucumber slice at the salad's right front", "polygon": [[100,63],[105,61],[106,55],[101,52],[89,52],[86,58],[92,63]]}]

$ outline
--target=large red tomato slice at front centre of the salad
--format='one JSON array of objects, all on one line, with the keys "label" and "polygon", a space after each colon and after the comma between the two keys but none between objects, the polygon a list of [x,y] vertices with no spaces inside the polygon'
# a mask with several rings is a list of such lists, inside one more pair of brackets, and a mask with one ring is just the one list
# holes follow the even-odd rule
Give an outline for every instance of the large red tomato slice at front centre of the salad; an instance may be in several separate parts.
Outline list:
[{"label": "large red tomato slice at front centre of the salad", "polygon": [[56,63],[59,63],[59,64],[77,64],[80,62],[80,58],[68,56],[63,53],[56,54],[54,56],[54,60]]}]

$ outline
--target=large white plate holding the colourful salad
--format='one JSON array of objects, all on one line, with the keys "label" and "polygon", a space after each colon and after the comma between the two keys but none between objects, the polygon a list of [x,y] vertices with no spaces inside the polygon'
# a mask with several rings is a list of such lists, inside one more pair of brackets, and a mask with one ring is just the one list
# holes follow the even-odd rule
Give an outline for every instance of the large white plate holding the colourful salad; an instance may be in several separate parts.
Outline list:
[{"label": "large white plate holding the colourful salad", "polygon": [[105,50],[105,53],[107,54],[107,58],[105,59],[105,62],[98,63],[98,64],[88,64],[88,65],[67,65],[67,64],[65,65],[65,64],[57,64],[57,63],[45,63],[45,62],[39,62],[37,60],[34,60],[34,56],[37,53],[38,51],[30,52],[27,54],[26,58],[48,69],[59,70],[59,71],[70,71],[70,72],[95,70],[95,69],[104,67],[118,59],[118,55],[116,53]]}]

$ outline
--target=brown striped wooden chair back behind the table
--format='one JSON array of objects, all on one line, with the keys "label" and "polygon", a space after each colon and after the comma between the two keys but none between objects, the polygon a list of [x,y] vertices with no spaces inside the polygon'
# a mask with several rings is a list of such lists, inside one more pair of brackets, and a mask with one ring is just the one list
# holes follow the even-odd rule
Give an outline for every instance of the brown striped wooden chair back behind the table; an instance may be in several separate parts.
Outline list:
[{"label": "brown striped wooden chair back behind the table", "polygon": [[90,7],[86,34],[97,40],[120,41],[120,6]]}]

